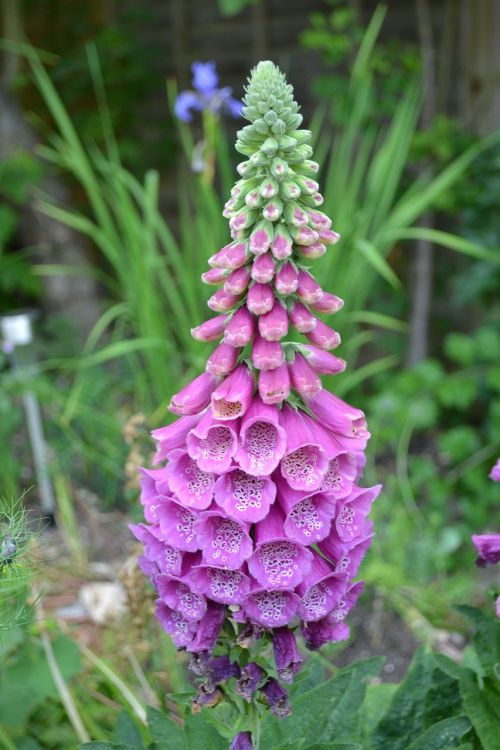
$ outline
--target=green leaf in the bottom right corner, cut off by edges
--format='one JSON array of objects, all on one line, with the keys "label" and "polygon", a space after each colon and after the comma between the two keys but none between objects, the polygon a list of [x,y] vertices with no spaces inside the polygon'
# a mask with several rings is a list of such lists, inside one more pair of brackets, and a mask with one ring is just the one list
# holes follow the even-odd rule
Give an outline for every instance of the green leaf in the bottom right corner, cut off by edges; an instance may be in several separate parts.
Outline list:
[{"label": "green leaf in the bottom right corner, cut off by edges", "polygon": [[484,750],[498,750],[500,745],[500,688],[498,679],[495,682],[485,679],[480,689],[470,669],[463,669],[460,678],[465,710]]}]

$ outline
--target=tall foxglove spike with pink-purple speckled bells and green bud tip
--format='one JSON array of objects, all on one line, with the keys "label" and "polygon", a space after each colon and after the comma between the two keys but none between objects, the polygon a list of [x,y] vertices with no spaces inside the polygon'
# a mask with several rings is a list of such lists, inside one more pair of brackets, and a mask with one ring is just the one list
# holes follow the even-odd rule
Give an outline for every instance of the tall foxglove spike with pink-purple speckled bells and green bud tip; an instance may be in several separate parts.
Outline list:
[{"label": "tall foxglove spike with pink-purple speckled bells and green bud tip", "polygon": [[[180,418],[153,432],[166,463],[141,470],[147,524],[131,528],[157,617],[202,678],[195,709],[225,695],[254,717],[262,700],[284,717],[281,683],[302,661],[297,632],[311,649],[349,635],[380,485],[358,484],[363,412],[322,387],[345,362],[329,352],[340,336],[318,314],[342,301],[304,263],[339,236],[319,210],[311,133],[273,63],[253,70],[243,115],[236,149],[247,159],[224,209],[232,241],[203,274],[219,286],[208,303],[217,315],[192,331],[218,345],[172,397]],[[294,329],[309,343],[293,341]],[[274,666],[248,654],[256,643],[272,644]],[[240,716],[231,747],[257,746],[258,720]]]}]

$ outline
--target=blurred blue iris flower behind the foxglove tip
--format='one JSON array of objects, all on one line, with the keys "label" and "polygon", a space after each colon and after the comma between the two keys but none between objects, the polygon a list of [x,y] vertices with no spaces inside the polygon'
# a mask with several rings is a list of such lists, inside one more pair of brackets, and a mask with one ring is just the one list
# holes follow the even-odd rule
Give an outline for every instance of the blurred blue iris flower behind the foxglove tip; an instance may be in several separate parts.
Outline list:
[{"label": "blurred blue iris flower behind the foxglove tip", "polygon": [[193,112],[208,110],[214,114],[241,117],[242,104],[235,99],[229,86],[217,88],[219,76],[214,62],[195,62],[191,66],[193,89],[181,91],[175,101],[175,114],[183,122],[191,122]]}]

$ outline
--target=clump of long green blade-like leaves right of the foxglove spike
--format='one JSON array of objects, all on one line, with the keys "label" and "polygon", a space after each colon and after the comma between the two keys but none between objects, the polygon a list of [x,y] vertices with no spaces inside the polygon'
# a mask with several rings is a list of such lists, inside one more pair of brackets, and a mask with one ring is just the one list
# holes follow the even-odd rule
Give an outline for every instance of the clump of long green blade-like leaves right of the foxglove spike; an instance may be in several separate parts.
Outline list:
[{"label": "clump of long green blade-like leaves right of the foxglove spike", "polygon": [[[377,85],[371,66],[372,53],[383,24],[386,9],[379,7],[365,32],[349,82],[349,113],[341,125],[334,124],[331,112],[318,110],[315,128],[317,160],[324,165],[322,186],[324,210],[334,220],[342,241],[322,258],[316,269],[322,284],[345,299],[339,314],[339,325],[346,341],[345,352],[353,360],[366,341],[357,335],[359,323],[367,323],[398,332],[406,330],[404,321],[378,313],[376,303],[366,310],[377,280],[382,279],[387,295],[404,292],[387,257],[402,244],[409,253],[407,240],[425,238],[475,258],[499,262],[498,249],[487,250],[448,232],[417,227],[419,217],[458,180],[479,153],[500,140],[500,131],[485,138],[439,174],[424,174],[407,186],[408,158],[418,129],[421,91],[417,79],[404,80],[399,72],[391,73],[395,87],[401,89],[400,101],[383,125],[378,118]],[[335,107],[335,102],[332,103]],[[314,132],[313,130],[313,132]],[[366,370],[346,373],[341,388],[347,390],[366,375],[375,374],[394,364],[394,357],[372,362]]]}]

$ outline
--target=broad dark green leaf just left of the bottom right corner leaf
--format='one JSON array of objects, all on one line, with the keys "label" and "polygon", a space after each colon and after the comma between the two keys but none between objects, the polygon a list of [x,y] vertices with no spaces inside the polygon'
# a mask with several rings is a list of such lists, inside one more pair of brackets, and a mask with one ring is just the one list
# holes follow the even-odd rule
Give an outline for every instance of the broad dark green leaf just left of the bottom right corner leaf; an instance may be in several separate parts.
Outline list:
[{"label": "broad dark green leaf just left of the bottom right corner leaf", "polygon": [[403,750],[421,732],[458,713],[459,708],[457,681],[437,667],[432,653],[419,649],[375,728],[373,749]]}]

